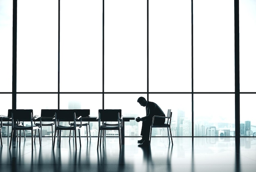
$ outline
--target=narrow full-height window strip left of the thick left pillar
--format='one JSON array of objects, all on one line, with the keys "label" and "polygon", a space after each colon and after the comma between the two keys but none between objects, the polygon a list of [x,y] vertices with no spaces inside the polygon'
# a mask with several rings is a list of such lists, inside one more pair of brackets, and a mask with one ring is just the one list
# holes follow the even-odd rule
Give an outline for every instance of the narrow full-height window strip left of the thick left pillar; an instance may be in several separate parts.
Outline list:
[{"label": "narrow full-height window strip left of the thick left pillar", "polygon": [[[12,107],[12,1],[0,1],[0,115]],[[2,136],[7,136],[2,128]]]}]

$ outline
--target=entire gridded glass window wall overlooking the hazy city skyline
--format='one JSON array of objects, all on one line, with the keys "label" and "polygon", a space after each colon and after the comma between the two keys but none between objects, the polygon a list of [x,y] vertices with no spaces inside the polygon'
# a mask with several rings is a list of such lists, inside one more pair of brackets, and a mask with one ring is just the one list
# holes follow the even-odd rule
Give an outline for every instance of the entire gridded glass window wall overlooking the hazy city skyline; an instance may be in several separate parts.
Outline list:
[{"label": "entire gridded glass window wall overlooking the hazy city skyline", "polygon": [[[146,114],[144,96],[172,110],[173,136],[235,136],[233,0],[19,1],[16,100],[12,6],[0,2],[1,114],[17,100],[35,115],[104,108],[136,118]],[[241,136],[256,133],[255,11],[240,0]],[[126,125],[126,136],[139,136],[141,123]],[[90,129],[97,136],[97,122]]]}]

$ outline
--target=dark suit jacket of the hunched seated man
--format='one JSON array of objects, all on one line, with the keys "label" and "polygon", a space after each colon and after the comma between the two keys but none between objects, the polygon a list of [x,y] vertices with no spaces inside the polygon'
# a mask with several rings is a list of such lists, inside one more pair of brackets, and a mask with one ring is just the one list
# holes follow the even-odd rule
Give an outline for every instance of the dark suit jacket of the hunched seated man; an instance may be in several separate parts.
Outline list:
[{"label": "dark suit jacket of the hunched seated man", "polygon": [[146,116],[142,118],[142,120],[150,120],[154,115],[165,116],[162,109],[154,102],[147,102],[146,104]]}]

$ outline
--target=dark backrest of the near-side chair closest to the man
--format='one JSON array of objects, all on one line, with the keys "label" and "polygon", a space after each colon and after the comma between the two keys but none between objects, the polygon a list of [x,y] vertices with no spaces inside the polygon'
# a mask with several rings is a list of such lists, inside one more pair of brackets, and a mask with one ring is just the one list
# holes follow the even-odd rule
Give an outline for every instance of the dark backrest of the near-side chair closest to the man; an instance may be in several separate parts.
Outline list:
[{"label": "dark backrest of the near-side chair closest to the man", "polygon": [[119,121],[121,109],[99,109],[101,121]]}]

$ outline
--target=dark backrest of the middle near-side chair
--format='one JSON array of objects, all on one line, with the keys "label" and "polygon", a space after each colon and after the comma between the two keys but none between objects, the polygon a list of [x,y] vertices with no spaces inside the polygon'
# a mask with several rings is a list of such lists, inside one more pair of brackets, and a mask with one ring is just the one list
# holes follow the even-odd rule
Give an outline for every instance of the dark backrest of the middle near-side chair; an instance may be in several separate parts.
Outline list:
[{"label": "dark backrest of the middle near-side chair", "polygon": [[76,113],[71,109],[61,109],[55,112],[55,118],[57,121],[75,121]]}]

